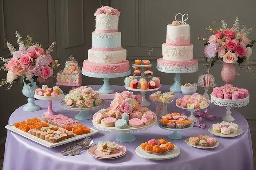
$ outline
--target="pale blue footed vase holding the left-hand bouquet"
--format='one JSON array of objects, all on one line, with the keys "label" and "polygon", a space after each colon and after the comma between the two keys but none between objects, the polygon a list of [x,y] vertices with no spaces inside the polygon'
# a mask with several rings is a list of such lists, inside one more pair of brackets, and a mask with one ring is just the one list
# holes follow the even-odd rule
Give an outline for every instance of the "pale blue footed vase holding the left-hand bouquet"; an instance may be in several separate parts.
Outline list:
[{"label": "pale blue footed vase holding the left-hand bouquet", "polygon": [[29,112],[34,112],[34,111],[40,110],[40,106],[38,106],[34,103],[35,91],[38,88],[38,86],[36,86],[36,82],[34,82],[34,79],[30,79],[30,82],[28,84],[26,84],[24,82],[24,80],[23,80],[23,83],[24,83],[24,85],[22,88],[22,93],[26,97],[29,97],[27,99],[28,103],[23,106],[23,110],[29,111]]}]

